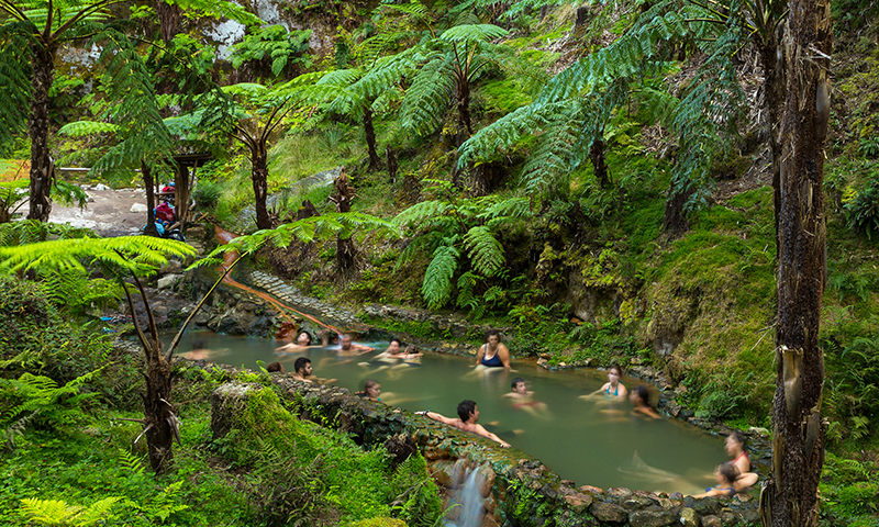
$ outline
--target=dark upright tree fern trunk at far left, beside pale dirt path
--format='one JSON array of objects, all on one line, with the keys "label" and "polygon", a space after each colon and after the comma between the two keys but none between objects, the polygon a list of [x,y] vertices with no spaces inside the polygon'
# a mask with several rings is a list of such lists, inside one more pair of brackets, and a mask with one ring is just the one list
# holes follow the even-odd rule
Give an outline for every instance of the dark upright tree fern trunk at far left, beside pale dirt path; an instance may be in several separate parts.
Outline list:
[{"label": "dark upright tree fern trunk at far left, beside pale dirt path", "polygon": [[52,159],[48,152],[48,90],[55,76],[55,47],[34,44],[31,79],[31,198],[27,218],[48,221],[52,212]]}]

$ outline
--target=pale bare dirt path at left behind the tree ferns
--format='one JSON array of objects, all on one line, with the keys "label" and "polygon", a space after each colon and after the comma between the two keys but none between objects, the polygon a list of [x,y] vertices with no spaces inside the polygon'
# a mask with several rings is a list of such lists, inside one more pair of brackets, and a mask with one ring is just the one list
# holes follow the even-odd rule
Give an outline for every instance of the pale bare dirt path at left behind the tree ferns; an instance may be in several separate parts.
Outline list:
[{"label": "pale bare dirt path at left behind the tree ferns", "polygon": [[[146,224],[146,192],[143,189],[88,190],[85,209],[52,204],[52,223],[69,223],[93,229],[104,237],[133,236]],[[142,212],[132,212],[135,204]],[[136,210],[136,209],[135,209]]]}]

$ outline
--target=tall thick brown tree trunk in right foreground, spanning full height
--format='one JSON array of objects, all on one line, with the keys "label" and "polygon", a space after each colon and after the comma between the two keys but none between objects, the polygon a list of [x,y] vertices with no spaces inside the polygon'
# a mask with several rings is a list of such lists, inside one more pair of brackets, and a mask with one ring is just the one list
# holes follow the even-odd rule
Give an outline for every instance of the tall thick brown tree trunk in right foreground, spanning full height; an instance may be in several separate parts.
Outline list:
[{"label": "tall thick brown tree trunk in right foreground, spanning full height", "polygon": [[789,9],[772,405],[775,484],[766,489],[761,508],[774,527],[813,527],[819,522],[826,431],[821,419],[824,355],[819,322],[827,273],[823,180],[831,1],[790,0]]}]

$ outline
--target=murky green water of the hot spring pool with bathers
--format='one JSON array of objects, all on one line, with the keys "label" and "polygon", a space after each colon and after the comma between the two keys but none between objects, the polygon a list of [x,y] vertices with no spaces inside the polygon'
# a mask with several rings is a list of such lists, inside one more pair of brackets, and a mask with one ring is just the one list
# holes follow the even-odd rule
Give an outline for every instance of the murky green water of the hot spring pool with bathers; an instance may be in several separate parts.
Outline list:
[{"label": "murky green water of the hot spring pool with bathers", "polygon": [[[480,424],[578,485],[697,493],[714,484],[714,467],[726,460],[722,437],[671,418],[648,421],[633,415],[628,401],[579,399],[607,382],[603,371],[547,371],[533,360],[514,358],[515,373],[502,368],[479,373],[470,368],[475,359],[445,355],[425,355],[420,363],[392,367],[374,359],[386,343],[361,343],[377,350],[358,357],[341,357],[337,346],[278,355],[275,349],[280,343],[275,340],[209,332],[189,332],[180,352],[191,349],[194,339],[204,343],[214,362],[256,368],[257,361],[278,361],[292,372],[296,358],[305,356],[315,375],[337,379],[333,384],[352,392],[361,390],[367,379],[376,379],[382,402],[410,411],[431,410],[454,417],[461,400],[474,400]],[[515,377],[526,380],[545,410],[514,407],[502,397]],[[630,390],[641,383],[625,377],[622,382]]]}]

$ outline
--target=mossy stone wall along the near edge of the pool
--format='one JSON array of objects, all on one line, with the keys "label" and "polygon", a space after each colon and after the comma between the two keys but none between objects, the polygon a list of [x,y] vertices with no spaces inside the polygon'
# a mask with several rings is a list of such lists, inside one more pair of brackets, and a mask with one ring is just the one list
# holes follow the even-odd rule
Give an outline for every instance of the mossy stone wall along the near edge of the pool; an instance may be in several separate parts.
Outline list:
[{"label": "mossy stone wall along the near edge of the pool", "polygon": [[[478,492],[485,500],[482,525],[488,527],[759,525],[756,491],[743,502],[737,497],[693,500],[621,487],[578,487],[524,452],[502,449],[488,439],[411,412],[363,400],[347,389],[303,383],[281,373],[272,373],[271,380],[301,418],[351,434],[367,447],[385,445],[398,458],[418,448],[447,496],[461,484],[464,468],[477,470],[481,475]],[[219,388],[212,413],[237,407],[222,400],[242,393],[234,383]],[[223,421],[222,415],[214,417]]]}]

